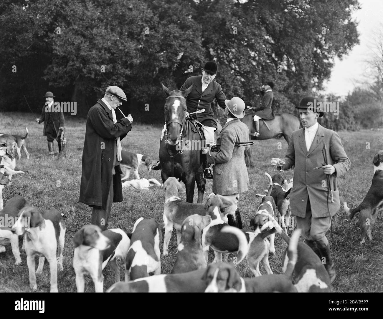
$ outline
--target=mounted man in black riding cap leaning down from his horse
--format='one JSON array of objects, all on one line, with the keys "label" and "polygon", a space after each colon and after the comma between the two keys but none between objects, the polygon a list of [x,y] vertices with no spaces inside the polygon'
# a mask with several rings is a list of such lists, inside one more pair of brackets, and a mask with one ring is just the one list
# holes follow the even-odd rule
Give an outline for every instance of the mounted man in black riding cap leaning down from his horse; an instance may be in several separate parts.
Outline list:
[{"label": "mounted man in black riding cap leaning down from his horse", "polygon": [[[208,61],[202,69],[202,75],[190,76],[180,88],[180,91],[185,91],[191,85],[193,88],[186,98],[187,113],[196,112],[205,109],[204,112],[192,114],[190,116],[196,119],[196,122],[202,124],[202,130],[205,135],[206,148],[203,153],[207,153],[208,147],[214,144],[214,131],[217,129],[217,121],[214,119],[214,112],[211,108],[211,103],[215,98],[219,106],[226,108],[226,96],[214,78],[217,75],[218,66],[214,61]],[[161,139],[164,137],[166,124],[162,130]],[[160,160],[152,166],[152,169],[157,171],[161,169]],[[204,178],[212,178],[211,173],[204,173]]]}]

